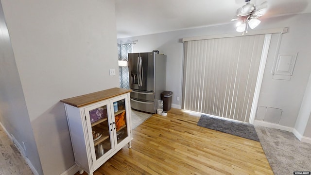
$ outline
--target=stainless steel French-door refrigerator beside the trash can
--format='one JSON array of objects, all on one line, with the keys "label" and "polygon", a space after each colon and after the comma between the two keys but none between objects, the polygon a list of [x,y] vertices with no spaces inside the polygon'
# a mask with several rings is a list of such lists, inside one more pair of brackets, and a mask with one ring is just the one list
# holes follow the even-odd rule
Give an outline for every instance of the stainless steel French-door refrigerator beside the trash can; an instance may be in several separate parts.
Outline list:
[{"label": "stainless steel French-door refrigerator beside the trash can", "polygon": [[129,78],[131,107],[140,111],[156,113],[157,100],[166,86],[166,55],[152,53],[129,53]]}]

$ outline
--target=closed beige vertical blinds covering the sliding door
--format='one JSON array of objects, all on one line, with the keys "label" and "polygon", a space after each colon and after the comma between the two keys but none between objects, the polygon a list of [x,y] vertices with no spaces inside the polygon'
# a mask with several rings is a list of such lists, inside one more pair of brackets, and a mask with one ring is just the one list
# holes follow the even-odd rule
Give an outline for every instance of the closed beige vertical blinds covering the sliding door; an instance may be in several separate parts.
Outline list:
[{"label": "closed beige vertical blinds covering the sliding door", "polygon": [[248,122],[264,38],[185,41],[183,109]]}]

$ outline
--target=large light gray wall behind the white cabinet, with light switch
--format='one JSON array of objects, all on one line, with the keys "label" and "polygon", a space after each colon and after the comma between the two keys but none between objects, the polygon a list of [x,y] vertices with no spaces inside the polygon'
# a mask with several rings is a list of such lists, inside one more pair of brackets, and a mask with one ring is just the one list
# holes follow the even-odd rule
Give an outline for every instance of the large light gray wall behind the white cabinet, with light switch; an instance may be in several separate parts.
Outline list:
[{"label": "large light gray wall behind the white cabinet, with light switch", "polygon": [[[119,87],[114,0],[2,0],[45,175],[74,165],[61,99]],[[118,72],[118,71],[117,71]]]}]

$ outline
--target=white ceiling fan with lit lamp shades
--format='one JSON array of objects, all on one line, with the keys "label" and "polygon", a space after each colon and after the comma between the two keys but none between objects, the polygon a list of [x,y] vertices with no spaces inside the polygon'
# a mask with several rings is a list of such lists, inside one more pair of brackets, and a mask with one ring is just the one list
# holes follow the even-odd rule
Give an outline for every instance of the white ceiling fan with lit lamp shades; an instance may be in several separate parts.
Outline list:
[{"label": "white ceiling fan with lit lamp shades", "polygon": [[251,0],[245,0],[246,4],[238,8],[237,15],[231,21],[237,20],[237,32],[248,31],[248,26],[254,29],[261,22],[259,17],[263,16],[268,9],[267,1],[262,2],[257,8],[255,4],[250,3]]}]

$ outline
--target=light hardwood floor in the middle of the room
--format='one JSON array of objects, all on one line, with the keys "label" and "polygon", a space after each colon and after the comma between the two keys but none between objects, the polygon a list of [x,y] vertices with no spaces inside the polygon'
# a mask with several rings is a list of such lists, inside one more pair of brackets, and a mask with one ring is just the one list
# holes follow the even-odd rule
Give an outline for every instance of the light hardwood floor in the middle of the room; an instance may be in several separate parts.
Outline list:
[{"label": "light hardwood floor in the middle of the room", "polygon": [[94,175],[273,175],[258,141],[198,121],[174,108],[154,114],[133,130],[132,148],[123,147]]}]

